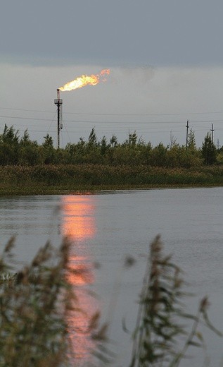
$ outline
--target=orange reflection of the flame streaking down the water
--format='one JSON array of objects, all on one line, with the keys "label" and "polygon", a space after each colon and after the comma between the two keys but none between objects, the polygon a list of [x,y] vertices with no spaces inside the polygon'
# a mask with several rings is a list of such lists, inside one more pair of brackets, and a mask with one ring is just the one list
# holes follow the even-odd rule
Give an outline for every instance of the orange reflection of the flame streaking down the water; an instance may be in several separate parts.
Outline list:
[{"label": "orange reflection of the flame streaking down the water", "polygon": [[[94,342],[89,331],[89,321],[98,305],[88,292],[94,283],[94,266],[87,253],[84,240],[94,238],[94,200],[91,195],[68,195],[63,197],[63,235],[68,236],[73,246],[68,264],[68,282],[72,284],[77,301],[75,311],[67,315],[75,366],[86,366],[91,359]],[[78,303],[77,303],[78,302]]]}]

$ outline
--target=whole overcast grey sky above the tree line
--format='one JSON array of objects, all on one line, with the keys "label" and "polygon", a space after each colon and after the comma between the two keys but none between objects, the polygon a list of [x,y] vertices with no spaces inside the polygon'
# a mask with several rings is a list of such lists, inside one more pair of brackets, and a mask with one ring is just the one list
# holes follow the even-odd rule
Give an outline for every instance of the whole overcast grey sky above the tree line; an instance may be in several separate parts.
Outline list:
[{"label": "whole overcast grey sky above the tree line", "polygon": [[223,145],[223,1],[20,0],[0,13],[0,128],[56,145],[56,88],[110,68],[106,83],[61,92],[61,146],[129,132],[154,145]]}]

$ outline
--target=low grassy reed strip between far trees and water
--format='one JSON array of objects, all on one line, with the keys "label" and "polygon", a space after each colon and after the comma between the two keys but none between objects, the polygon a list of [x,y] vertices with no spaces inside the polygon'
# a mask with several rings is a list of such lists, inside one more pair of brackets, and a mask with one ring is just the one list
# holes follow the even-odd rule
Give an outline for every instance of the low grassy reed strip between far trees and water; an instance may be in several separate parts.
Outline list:
[{"label": "low grassy reed strip between far trees and water", "polygon": [[223,186],[223,165],[196,169],[103,164],[1,166],[0,179],[0,195]]}]

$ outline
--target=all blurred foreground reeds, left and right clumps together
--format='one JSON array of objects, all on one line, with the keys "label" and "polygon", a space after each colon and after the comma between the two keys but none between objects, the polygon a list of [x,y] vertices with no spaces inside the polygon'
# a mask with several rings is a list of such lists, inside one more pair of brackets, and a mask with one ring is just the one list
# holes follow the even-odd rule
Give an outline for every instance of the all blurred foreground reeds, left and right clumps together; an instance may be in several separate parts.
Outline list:
[{"label": "all blurred foreground reeds, left and right clumps together", "polygon": [[[86,333],[94,342],[91,350],[94,366],[106,366],[113,360],[106,343],[107,325],[100,326],[100,312],[87,318],[86,331],[78,330],[69,320],[86,311],[79,303],[74,282],[69,279],[86,277],[87,269],[76,269],[70,263],[70,243],[64,239],[60,248],[51,243],[40,248],[30,265],[13,271],[15,266],[11,238],[0,258],[0,366],[50,367],[75,366],[77,356],[73,338]],[[134,265],[128,257],[125,267]],[[203,347],[203,335],[198,330],[200,321],[217,335],[222,334],[210,323],[207,314],[208,299],[200,301],[197,315],[184,312],[181,299],[184,284],[181,270],[172,263],[171,256],[163,255],[160,236],[151,243],[136,320],[131,367],[177,367],[189,347]],[[181,320],[191,320],[191,331]],[[179,336],[185,342],[179,348]],[[103,364],[101,364],[103,363]],[[93,366],[93,365],[92,365]]]}]

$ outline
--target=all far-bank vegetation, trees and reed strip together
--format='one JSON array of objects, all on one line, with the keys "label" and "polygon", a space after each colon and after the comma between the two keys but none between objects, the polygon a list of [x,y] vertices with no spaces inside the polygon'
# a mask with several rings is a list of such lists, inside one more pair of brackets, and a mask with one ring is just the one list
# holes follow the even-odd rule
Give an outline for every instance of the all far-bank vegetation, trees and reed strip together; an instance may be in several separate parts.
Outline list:
[{"label": "all far-bank vegetation, trees and reed strip together", "polygon": [[136,132],[118,143],[112,136],[79,138],[65,148],[53,147],[47,135],[39,145],[5,125],[0,135],[0,194],[67,193],[118,188],[222,186],[223,147],[217,149],[210,133],[201,148],[193,131],[187,146],[172,141],[153,147]]}]

